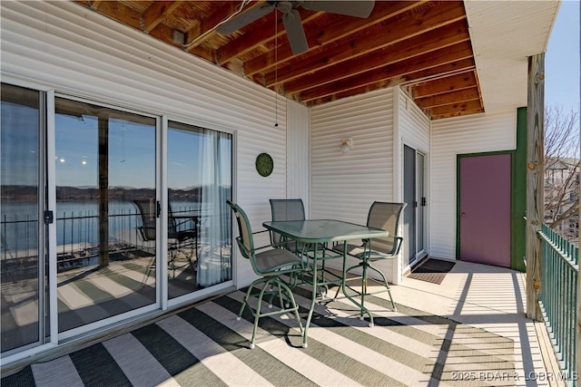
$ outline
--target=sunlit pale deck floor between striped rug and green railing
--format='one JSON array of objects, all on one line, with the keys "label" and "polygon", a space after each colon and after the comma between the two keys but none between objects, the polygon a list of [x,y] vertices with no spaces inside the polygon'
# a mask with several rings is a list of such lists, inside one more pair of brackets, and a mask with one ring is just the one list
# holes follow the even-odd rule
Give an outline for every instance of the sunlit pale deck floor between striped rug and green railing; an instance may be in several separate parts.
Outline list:
[{"label": "sunlit pale deck floor between striped rug and green railing", "polygon": [[406,277],[391,292],[399,304],[513,340],[517,385],[566,385],[545,324],[526,316],[525,283],[524,273],[458,261],[439,285]]}]

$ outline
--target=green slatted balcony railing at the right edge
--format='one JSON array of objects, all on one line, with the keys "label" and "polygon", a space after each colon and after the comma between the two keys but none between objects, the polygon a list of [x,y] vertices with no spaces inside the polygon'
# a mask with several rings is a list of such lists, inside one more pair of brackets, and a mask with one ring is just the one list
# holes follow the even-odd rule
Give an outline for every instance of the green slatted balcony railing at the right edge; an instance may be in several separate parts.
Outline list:
[{"label": "green slatted balcony railing at the right edge", "polygon": [[579,248],[547,225],[538,235],[544,283],[539,304],[563,375],[575,383],[576,372],[580,371],[576,370]]}]

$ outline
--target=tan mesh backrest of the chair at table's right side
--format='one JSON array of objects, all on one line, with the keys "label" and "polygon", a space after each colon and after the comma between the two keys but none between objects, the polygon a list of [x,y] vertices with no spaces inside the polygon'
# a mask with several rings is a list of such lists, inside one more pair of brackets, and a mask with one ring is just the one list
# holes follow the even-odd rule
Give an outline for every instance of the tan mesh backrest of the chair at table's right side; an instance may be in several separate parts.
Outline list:
[{"label": "tan mesh backrest of the chair at table's right side", "polygon": [[[368,227],[381,228],[389,232],[388,237],[374,237],[371,239],[371,248],[382,253],[396,255],[401,243],[398,237],[399,218],[407,203],[389,203],[376,201],[369,208],[367,218]],[[399,239],[399,240],[398,240]]]}]

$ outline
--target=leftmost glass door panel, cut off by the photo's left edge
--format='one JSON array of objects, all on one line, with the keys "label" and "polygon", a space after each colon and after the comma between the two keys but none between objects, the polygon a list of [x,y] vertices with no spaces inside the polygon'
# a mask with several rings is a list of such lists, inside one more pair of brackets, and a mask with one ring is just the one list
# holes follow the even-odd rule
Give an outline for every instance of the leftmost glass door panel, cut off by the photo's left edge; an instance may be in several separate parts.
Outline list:
[{"label": "leftmost glass door panel, cut off by the photo's left edge", "polygon": [[41,92],[2,83],[2,353],[41,343],[44,337],[42,99]]}]

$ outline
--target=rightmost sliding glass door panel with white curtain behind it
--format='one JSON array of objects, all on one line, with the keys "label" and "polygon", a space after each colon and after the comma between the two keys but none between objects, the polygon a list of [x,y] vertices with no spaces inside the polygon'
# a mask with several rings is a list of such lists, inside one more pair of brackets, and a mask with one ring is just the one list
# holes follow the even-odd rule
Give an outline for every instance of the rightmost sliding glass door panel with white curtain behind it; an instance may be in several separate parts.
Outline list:
[{"label": "rightmost sliding glass door panel with white curtain behind it", "polygon": [[231,134],[170,121],[168,295],[231,280]]}]

